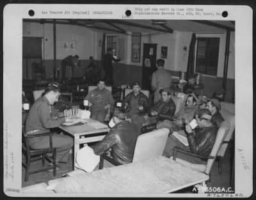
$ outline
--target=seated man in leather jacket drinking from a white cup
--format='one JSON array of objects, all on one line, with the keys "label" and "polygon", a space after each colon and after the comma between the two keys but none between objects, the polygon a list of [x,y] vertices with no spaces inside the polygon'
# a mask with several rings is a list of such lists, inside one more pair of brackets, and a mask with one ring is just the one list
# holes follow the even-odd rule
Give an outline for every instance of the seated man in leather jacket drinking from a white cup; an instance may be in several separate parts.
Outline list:
[{"label": "seated man in leather jacket drinking from a white cup", "polygon": [[[179,139],[170,135],[166,142],[163,155],[166,157],[172,156],[173,148],[177,146],[184,150],[191,151],[192,153],[209,156],[214,146],[218,131],[218,127],[211,122],[211,118],[211,112],[208,109],[199,109],[195,114],[198,127],[196,127],[195,130],[192,130],[189,123],[185,127],[184,136],[188,138],[189,146],[185,146]],[[190,157],[183,153],[179,153],[178,157],[194,164],[204,162],[204,160],[201,160],[200,158]]]}]

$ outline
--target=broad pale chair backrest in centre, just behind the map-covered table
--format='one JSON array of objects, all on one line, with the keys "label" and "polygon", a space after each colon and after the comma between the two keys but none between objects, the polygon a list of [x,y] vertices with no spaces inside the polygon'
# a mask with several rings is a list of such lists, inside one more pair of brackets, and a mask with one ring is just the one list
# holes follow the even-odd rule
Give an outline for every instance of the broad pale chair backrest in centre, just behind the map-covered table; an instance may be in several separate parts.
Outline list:
[{"label": "broad pale chair backrest in centre, just behind the map-covered table", "polygon": [[168,128],[161,128],[140,135],[136,141],[132,162],[163,155],[169,132]]}]

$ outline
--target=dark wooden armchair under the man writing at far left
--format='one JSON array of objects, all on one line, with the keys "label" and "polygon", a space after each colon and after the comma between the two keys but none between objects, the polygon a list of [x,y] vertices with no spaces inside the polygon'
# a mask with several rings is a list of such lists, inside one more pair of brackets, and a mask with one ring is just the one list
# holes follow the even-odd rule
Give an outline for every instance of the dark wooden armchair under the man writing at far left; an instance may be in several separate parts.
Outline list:
[{"label": "dark wooden armchair under the man writing at far left", "polygon": [[[28,139],[40,136],[49,136],[49,148],[33,149],[30,147]],[[26,162],[22,160],[22,165],[26,169],[25,181],[28,181],[29,174],[39,173],[49,169],[53,169],[53,175],[56,176],[56,148],[52,148],[52,133],[26,134],[25,128],[22,127],[22,153],[26,155]],[[42,160],[43,166],[45,165],[45,160],[52,163],[52,165],[31,171],[31,162],[37,160]]]}]

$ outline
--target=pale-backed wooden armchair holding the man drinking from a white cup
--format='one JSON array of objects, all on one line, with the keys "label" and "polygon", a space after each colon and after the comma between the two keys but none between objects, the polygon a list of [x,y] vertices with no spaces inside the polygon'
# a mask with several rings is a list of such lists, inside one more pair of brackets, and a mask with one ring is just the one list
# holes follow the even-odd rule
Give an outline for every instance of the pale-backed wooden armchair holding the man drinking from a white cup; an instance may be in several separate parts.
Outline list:
[{"label": "pale-backed wooden armchair holding the man drinking from a white cup", "polygon": [[[176,160],[180,164],[186,165],[189,168],[196,169],[202,173],[210,174],[212,165],[214,164],[214,161],[217,157],[218,151],[220,150],[221,144],[223,143],[223,140],[225,139],[228,131],[230,130],[230,125],[228,121],[223,121],[220,125],[220,128],[218,129],[217,135],[216,135],[216,141],[214,143],[214,146],[212,148],[212,151],[208,157],[204,155],[198,155],[196,153],[192,153],[191,151],[182,150],[180,148],[173,148],[173,160]],[[198,157],[207,159],[206,164],[193,164],[191,162],[188,162],[186,160],[182,160],[177,157],[178,153],[184,153],[186,155],[189,155],[191,157]]]}]

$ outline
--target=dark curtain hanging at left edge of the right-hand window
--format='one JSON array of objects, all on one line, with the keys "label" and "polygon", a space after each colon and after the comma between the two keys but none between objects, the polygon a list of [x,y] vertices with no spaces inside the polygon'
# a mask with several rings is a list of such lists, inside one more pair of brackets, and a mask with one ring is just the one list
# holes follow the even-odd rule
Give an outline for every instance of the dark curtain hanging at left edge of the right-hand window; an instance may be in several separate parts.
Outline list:
[{"label": "dark curtain hanging at left edge of the right-hand window", "polygon": [[189,54],[188,54],[188,66],[187,66],[187,79],[191,77],[194,73],[194,64],[195,64],[195,45],[196,45],[196,35],[193,33],[191,42],[189,45]]}]

